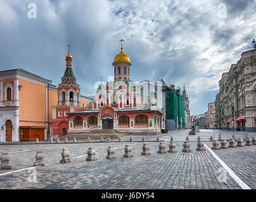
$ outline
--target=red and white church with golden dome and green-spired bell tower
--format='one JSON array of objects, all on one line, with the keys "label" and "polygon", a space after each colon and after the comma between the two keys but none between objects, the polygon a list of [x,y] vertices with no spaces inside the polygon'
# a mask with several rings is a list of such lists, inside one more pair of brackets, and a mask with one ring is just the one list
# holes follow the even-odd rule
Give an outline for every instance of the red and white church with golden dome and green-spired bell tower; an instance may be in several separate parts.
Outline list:
[{"label": "red and white church with golden dome and green-spired bell tower", "polygon": [[151,90],[144,90],[143,85],[131,80],[132,63],[123,51],[123,41],[120,40],[120,53],[112,63],[114,80],[104,85],[101,78],[96,94],[85,110],[79,105],[80,88],[72,71],[72,56],[68,49],[65,73],[58,85],[58,105],[52,107],[51,135],[93,130],[100,133],[106,129],[128,134],[158,134],[165,129],[165,117],[155,85]]}]

